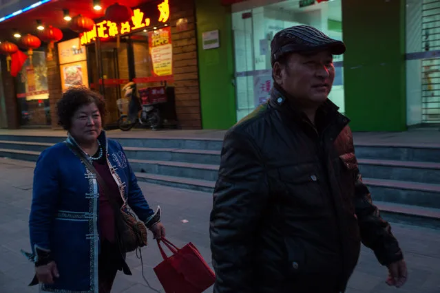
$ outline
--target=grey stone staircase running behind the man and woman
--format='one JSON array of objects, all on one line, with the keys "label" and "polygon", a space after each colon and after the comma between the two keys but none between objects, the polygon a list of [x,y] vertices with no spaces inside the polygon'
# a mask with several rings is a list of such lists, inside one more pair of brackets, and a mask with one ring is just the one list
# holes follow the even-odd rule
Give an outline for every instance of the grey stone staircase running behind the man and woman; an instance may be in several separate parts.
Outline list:
[{"label": "grey stone staircase running behind the man and woman", "polygon": [[[138,180],[211,193],[221,140],[118,138]],[[36,161],[59,136],[0,135],[0,158]],[[440,148],[356,145],[375,204],[392,221],[440,229]],[[1,161],[0,161],[1,162]]]}]

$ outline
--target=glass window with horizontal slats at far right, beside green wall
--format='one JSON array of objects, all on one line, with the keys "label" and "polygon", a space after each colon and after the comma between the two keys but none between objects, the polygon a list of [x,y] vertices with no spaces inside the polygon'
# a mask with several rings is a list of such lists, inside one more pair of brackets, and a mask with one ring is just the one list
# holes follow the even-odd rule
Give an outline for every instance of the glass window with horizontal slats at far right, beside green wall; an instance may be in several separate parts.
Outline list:
[{"label": "glass window with horizontal slats at far right, beside green wall", "polygon": [[440,123],[440,1],[406,1],[407,124]]}]

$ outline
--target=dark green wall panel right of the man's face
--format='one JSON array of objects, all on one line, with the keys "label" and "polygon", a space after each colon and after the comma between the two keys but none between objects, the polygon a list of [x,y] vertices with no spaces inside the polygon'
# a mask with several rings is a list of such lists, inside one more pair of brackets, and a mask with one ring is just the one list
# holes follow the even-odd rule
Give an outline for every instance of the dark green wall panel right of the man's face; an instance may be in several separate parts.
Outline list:
[{"label": "dark green wall panel right of the man's face", "polygon": [[406,130],[405,1],[342,0],[342,33],[350,127]]}]

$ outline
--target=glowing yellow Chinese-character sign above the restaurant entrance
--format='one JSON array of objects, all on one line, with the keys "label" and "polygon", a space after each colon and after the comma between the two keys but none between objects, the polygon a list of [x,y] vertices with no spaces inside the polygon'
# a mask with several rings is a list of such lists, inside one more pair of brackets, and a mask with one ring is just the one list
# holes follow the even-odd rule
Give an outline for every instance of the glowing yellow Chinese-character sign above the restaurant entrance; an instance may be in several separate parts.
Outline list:
[{"label": "glowing yellow Chinese-character sign above the restaurant entrance", "polygon": [[[149,11],[149,10],[145,10]],[[96,41],[96,37],[100,39],[107,39],[109,37],[115,37],[118,35],[129,34],[134,30],[140,30],[147,28],[150,25],[159,25],[160,23],[166,23],[169,20],[169,3],[168,0],[164,0],[157,6],[157,15],[150,15],[145,17],[145,13],[140,8],[133,10],[133,16],[131,21],[126,21],[118,25],[112,21],[103,20],[94,26],[93,30],[85,32],[80,35],[81,45],[87,45]]]}]

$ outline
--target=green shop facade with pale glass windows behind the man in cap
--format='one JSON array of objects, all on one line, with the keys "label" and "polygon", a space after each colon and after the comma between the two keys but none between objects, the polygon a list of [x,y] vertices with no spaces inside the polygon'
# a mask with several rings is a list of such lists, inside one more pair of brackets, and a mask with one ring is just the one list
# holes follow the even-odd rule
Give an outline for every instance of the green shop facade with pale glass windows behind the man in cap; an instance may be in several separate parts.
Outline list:
[{"label": "green shop facade with pale glass windows behind the man in cap", "polygon": [[[240,120],[266,100],[272,83],[270,41],[277,31],[298,24],[313,25],[346,43],[346,53],[335,56],[336,79],[329,98],[351,119],[353,130],[404,131],[440,123],[440,1],[222,2],[231,15],[229,20],[225,13],[231,31],[224,26],[227,39],[222,41],[233,48],[219,53],[232,56],[222,60],[228,80],[221,84],[226,89],[216,91],[217,96],[227,96],[233,84],[233,96],[222,99],[227,109],[216,116],[225,124]],[[205,88],[213,85],[200,86],[206,117],[204,104],[216,102],[204,102]],[[213,121],[204,118],[203,124]]]}]

